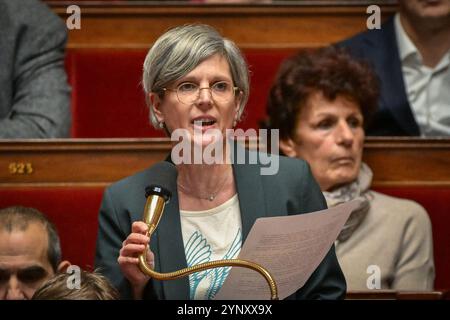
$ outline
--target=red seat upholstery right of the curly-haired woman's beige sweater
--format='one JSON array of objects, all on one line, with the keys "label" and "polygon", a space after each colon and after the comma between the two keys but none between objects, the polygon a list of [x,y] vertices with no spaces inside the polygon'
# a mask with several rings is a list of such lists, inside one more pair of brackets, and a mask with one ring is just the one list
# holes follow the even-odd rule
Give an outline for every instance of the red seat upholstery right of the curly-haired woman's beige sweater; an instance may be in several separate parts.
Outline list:
[{"label": "red seat upholstery right of the curly-haired woman's beige sweater", "polygon": [[428,212],[433,227],[436,289],[450,288],[450,188],[396,187],[376,188],[377,191],[412,199]]}]

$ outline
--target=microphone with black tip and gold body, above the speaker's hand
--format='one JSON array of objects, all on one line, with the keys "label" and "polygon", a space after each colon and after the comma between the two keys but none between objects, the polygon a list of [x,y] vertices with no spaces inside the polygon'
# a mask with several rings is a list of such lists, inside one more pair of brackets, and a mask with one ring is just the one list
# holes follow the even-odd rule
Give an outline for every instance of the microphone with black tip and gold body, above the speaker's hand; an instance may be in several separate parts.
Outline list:
[{"label": "microphone with black tip and gold body, above the speaker's hand", "polygon": [[172,192],[176,190],[178,171],[176,167],[167,162],[159,162],[152,169],[156,173],[151,178],[152,184],[145,188],[147,201],[144,207],[144,222],[149,227],[148,234],[152,234],[158,226],[164,206],[170,201]]}]

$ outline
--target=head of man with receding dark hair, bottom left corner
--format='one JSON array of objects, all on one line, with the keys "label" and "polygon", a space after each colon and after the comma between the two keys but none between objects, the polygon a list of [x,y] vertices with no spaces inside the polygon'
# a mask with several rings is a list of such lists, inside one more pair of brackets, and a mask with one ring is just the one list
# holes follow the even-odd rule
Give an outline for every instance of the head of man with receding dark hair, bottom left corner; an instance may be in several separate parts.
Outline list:
[{"label": "head of man with receding dark hair, bottom left corner", "polygon": [[0,210],[0,300],[31,299],[34,292],[70,263],[61,262],[55,226],[38,210]]}]

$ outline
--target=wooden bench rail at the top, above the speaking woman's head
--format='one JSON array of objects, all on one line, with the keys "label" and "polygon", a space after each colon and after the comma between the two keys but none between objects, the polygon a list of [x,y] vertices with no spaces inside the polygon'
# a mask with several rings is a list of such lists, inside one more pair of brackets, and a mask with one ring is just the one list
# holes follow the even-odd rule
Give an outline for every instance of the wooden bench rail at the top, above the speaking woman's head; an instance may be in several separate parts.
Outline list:
[{"label": "wooden bench rail at the top, above the speaking woman's head", "polygon": [[[68,3],[51,2],[67,19]],[[162,5],[79,3],[81,30],[69,31],[69,48],[149,48],[168,28],[185,23],[216,27],[242,48],[305,48],[327,45],[366,29],[367,4],[313,5]],[[394,5],[381,6],[382,19]]]}]

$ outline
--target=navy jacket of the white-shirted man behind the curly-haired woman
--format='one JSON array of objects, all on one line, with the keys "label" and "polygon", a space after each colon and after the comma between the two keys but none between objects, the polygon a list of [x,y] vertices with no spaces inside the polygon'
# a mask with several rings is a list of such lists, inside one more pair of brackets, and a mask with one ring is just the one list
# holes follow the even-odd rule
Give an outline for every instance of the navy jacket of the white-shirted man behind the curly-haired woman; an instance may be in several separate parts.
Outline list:
[{"label": "navy jacket of the white-shirted man behind the curly-haired woman", "polygon": [[368,61],[380,80],[379,107],[366,130],[372,136],[418,136],[419,126],[406,96],[402,64],[395,36],[394,19],[380,30],[369,30],[337,44]]}]

